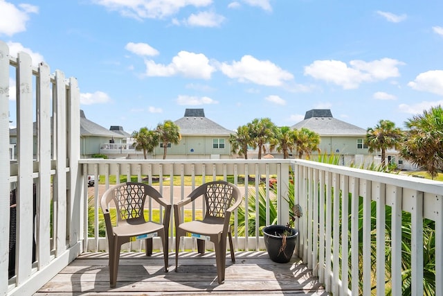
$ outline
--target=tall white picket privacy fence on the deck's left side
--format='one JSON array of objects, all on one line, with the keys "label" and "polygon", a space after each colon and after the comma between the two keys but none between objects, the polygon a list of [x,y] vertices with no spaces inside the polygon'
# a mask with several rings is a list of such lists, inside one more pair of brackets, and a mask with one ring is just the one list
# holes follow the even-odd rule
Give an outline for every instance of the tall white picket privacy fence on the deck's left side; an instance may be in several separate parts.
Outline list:
[{"label": "tall white picket privacy fence on the deck's left side", "polygon": [[[10,85],[11,78],[15,84]],[[15,101],[9,97],[12,89],[16,90]],[[10,161],[9,152],[10,105],[17,112],[14,161]],[[0,112],[0,295],[31,295],[82,251],[77,80],[66,79],[62,71],[51,74],[44,63],[33,67],[26,53],[19,53],[17,58],[10,56],[7,44],[0,41]],[[37,191],[36,217],[33,184]],[[15,276],[8,280],[10,251],[6,242],[12,230],[8,198],[12,189],[17,192],[16,266]],[[34,237],[37,260],[33,263]]]}]

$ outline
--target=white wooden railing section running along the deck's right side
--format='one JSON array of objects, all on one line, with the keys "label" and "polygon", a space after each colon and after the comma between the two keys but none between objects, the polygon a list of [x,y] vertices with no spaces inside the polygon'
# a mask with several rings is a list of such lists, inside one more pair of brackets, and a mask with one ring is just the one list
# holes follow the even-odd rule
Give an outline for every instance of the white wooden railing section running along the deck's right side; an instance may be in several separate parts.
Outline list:
[{"label": "white wooden railing section running along the deck's right side", "polygon": [[[375,286],[377,295],[385,295],[386,287],[392,288],[391,295],[401,295],[401,216],[410,213],[411,293],[424,295],[426,247],[435,248],[435,295],[443,295],[442,182],[304,160],[292,162],[296,165],[294,198],[304,212],[298,224],[298,255],[325,283],[327,291],[371,295]],[[376,209],[375,217],[371,217],[371,207]],[[374,227],[373,218],[377,221]],[[387,218],[390,225],[386,225]],[[424,219],[435,221],[435,245],[424,246]],[[386,241],[386,229],[390,229],[391,241]],[[386,265],[386,254],[391,258],[390,266]],[[390,270],[390,277],[386,270]]]}]

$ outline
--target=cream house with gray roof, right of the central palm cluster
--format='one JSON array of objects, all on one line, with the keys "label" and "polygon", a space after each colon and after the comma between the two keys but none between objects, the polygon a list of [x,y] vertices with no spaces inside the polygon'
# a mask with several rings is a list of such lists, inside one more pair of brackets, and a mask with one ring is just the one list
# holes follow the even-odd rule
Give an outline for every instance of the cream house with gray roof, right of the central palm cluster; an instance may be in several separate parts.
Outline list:
[{"label": "cream house with gray roof, right of the central palm cluster", "polygon": [[305,119],[291,128],[307,128],[320,135],[320,153],[340,155],[341,164],[370,164],[374,155],[365,144],[366,130],[356,125],[335,119],[329,109],[313,109],[305,114]]}]

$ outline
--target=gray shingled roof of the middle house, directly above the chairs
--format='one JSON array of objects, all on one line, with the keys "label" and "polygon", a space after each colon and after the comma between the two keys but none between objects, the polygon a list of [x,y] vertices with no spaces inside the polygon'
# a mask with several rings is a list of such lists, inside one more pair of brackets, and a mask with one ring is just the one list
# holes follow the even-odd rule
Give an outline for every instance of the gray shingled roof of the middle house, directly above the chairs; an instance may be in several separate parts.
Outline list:
[{"label": "gray shingled roof of the middle house, directly above the chairs", "polygon": [[185,116],[174,123],[179,126],[181,135],[228,136],[234,133],[207,119],[203,109],[186,109]]}]

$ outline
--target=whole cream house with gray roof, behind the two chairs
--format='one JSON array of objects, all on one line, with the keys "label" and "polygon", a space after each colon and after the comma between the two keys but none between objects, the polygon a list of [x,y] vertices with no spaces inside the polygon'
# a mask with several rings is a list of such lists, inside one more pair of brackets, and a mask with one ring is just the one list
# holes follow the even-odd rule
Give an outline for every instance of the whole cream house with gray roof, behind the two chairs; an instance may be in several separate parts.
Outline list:
[{"label": "whole cream house with gray roof, behind the two chairs", "polygon": [[[208,119],[203,109],[186,109],[174,123],[179,126],[181,141],[168,148],[168,159],[232,158],[229,136],[234,131]],[[163,143],[154,151],[154,157],[163,157]]]}]

